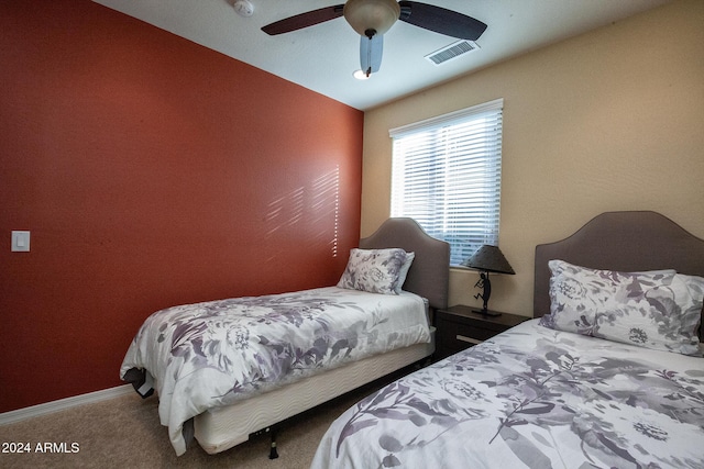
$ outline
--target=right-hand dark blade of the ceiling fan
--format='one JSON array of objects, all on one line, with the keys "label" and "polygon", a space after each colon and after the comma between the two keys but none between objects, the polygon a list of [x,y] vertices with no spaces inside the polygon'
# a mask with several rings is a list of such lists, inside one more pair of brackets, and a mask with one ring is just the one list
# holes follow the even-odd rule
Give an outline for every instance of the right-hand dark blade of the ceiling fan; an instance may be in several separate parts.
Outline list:
[{"label": "right-hand dark blade of the ceiling fan", "polygon": [[403,0],[398,4],[399,20],[424,30],[469,41],[479,40],[486,30],[486,24],[457,11],[416,1]]}]

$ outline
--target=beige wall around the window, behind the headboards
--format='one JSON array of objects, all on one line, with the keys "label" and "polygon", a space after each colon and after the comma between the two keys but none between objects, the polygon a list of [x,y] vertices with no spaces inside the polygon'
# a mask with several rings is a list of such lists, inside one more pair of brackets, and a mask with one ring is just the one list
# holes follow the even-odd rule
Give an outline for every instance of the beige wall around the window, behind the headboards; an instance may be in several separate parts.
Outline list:
[{"label": "beige wall around the window, behind the headboards", "polygon": [[[604,211],[654,210],[704,237],[704,1],[675,1],[365,113],[361,234],[389,214],[388,130],[504,98],[490,306],[532,314],[536,244]],[[476,272],[452,270],[450,304]]]}]

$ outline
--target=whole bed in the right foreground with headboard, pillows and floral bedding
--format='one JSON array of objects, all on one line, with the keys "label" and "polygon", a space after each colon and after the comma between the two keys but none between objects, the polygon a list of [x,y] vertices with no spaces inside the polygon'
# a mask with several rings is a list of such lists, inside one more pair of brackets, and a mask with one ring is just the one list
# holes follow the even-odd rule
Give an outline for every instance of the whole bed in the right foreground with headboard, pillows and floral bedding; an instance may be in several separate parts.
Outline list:
[{"label": "whole bed in the right foreground with headboard, pillows and floral bedding", "polygon": [[356,403],[311,468],[704,467],[704,241],[608,212],[535,271],[535,319]]}]

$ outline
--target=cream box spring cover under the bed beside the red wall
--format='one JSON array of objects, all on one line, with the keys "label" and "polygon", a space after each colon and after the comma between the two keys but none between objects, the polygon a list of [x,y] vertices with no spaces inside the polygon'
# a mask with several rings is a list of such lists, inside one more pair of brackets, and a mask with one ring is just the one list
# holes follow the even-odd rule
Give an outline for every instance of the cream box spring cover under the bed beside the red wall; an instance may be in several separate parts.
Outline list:
[{"label": "cream box spring cover under the bed beside the red wall", "polygon": [[432,342],[429,344],[417,344],[354,361],[233,405],[204,412],[195,417],[196,439],[211,455],[244,443],[252,433],[432,355],[435,327],[430,332]]}]

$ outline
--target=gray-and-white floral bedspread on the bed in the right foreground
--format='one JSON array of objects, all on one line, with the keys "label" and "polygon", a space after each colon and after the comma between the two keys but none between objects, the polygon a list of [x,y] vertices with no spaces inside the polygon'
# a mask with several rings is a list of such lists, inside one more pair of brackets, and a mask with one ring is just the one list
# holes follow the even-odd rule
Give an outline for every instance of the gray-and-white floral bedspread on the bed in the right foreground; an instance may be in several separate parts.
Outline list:
[{"label": "gray-and-white floral bedspread on the bed in the right foreground", "polygon": [[528,321],[349,409],[332,467],[703,468],[704,358]]}]

